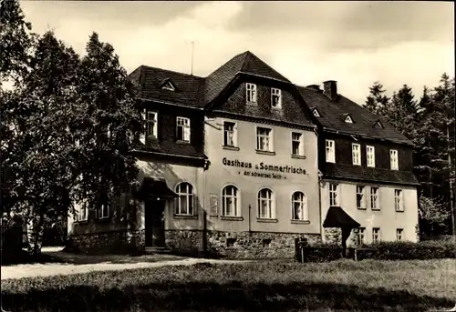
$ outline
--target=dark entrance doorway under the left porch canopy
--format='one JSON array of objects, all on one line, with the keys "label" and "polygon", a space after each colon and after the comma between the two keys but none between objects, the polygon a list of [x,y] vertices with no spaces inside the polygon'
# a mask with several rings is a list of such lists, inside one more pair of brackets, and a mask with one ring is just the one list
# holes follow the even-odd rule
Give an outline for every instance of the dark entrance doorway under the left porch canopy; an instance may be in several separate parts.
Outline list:
[{"label": "dark entrance doorway under the left porch canopy", "polygon": [[148,200],[144,206],[146,247],[165,246],[165,202]]}]

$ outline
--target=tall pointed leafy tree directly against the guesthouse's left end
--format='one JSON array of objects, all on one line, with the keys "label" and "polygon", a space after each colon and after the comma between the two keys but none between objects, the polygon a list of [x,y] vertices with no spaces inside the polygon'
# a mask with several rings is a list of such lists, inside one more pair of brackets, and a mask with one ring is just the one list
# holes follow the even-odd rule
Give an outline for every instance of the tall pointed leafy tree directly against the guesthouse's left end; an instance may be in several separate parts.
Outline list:
[{"label": "tall pointed leafy tree directly against the guesthouse's left end", "polygon": [[71,131],[78,141],[75,200],[98,211],[129,193],[138,175],[132,137],[144,130],[135,89],[114,48],[94,33],[79,68]]}]

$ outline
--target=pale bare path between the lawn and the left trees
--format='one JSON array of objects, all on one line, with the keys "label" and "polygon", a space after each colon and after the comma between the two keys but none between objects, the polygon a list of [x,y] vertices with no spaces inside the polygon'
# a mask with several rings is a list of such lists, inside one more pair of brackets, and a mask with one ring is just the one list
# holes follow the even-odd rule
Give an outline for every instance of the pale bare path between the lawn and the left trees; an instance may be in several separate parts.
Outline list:
[{"label": "pale bare path between the lawn and the left trees", "polygon": [[88,273],[93,271],[115,271],[130,270],[145,267],[163,266],[192,266],[198,263],[220,263],[232,264],[245,262],[244,260],[215,260],[202,258],[187,258],[183,260],[160,261],[160,262],[138,262],[138,263],[98,263],[89,265],[73,264],[33,264],[2,267],[2,280],[24,277],[51,277],[57,275],[71,275]]}]

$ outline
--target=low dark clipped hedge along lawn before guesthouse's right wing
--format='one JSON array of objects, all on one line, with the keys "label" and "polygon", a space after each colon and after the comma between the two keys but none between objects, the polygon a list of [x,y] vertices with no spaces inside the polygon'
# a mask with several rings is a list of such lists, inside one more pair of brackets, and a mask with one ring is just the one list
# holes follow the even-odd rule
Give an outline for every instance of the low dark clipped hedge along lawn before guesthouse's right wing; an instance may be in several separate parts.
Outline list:
[{"label": "low dark clipped hedge along lawn before guesthouse's right wing", "polygon": [[[347,258],[358,260],[427,260],[456,258],[456,244],[451,241],[380,242],[357,248],[347,248]],[[306,262],[332,261],[344,257],[344,250],[335,245],[318,245],[305,247]],[[297,255],[300,260],[300,255]]]}]

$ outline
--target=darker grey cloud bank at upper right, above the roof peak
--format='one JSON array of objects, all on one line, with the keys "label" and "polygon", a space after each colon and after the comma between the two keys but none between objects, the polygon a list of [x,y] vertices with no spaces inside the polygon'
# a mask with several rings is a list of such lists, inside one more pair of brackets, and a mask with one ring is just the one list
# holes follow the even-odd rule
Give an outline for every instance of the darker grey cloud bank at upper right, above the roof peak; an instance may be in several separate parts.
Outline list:
[{"label": "darker grey cloud bank at upper right, above the roof peak", "polygon": [[406,41],[446,42],[454,37],[452,3],[245,2],[230,29],[280,36],[317,33],[309,42],[327,51],[372,49]]}]

